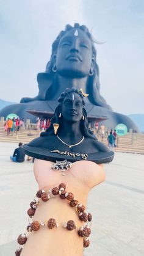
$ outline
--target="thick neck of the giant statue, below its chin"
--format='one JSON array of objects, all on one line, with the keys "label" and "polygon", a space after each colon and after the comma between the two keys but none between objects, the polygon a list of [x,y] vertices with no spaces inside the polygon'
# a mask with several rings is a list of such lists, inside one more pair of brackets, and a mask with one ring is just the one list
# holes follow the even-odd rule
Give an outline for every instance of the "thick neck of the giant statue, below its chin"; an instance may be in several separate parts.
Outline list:
[{"label": "thick neck of the giant statue, below its chin", "polygon": [[[87,76],[84,78],[65,78],[63,76],[58,75],[54,86],[57,87],[56,93],[54,94],[54,98],[52,100],[57,100],[60,97],[60,94],[65,91],[67,88],[75,87],[77,89],[83,89],[86,93],[87,90]],[[58,89],[59,88],[59,89]]]}]

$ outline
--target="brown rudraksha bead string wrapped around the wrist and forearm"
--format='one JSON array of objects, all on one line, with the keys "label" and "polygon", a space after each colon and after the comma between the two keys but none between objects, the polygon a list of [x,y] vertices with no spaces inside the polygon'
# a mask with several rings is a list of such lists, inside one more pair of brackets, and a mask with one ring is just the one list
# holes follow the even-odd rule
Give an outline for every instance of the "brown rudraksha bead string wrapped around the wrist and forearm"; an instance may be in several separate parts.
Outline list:
[{"label": "brown rudraksha bead string wrapped around the wrist and forearm", "polygon": [[[27,210],[27,214],[29,215],[29,224],[27,225],[27,231],[26,233],[22,233],[21,235],[18,236],[17,241],[18,241],[18,244],[20,244],[20,246],[15,252],[16,256],[20,256],[21,251],[23,249],[23,245],[27,241],[28,233],[32,231],[37,231],[40,229],[40,227],[44,227],[46,225],[49,229],[53,229],[54,227],[59,227],[59,225],[62,225],[62,227],[65,227],[68,230],[77,229],[77,234],[83,238],[83,246],[88,247],[90,245],[88,236],[91,233],[90,225],[92,221],[92,214],[85,213],[85,206],[82,205],[82,203],[79,203],[74,198],[74,194],[72,192],[67,192],[65,189],[66,189],[65,183],[60,183],[59,187],[54,187],[52,189],[49,189],[48,192],[46,192],[43,189],[37,191],[37,194],[34,197],[34,200],[30,203],[31,208]],[[72,220],[64,223],[58,223],[53,218],[45,222],[32,221],[35,214],[35,210],[40,204],[40,201],[38,199],[41,199],[43,202],[47,202],[49,199],[58,195],[60,199],[67,199],[70,202],[70,206],[75,208],[76,213],[79,216],[79,219],[85,222],[84,226],[78,227]]]}]

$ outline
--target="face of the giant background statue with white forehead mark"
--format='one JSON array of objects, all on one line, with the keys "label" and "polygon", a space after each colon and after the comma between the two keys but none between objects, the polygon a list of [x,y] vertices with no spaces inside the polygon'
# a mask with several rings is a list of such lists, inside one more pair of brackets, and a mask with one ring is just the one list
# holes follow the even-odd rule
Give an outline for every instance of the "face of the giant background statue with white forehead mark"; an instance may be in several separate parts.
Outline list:
[{"label": "face of the giant background statue with white forehead mark", "polygon": [[92,65],[92,43],[87,34],[81,29],[66,32],[57,49],[57,72],[62,76],[85,77]]}]

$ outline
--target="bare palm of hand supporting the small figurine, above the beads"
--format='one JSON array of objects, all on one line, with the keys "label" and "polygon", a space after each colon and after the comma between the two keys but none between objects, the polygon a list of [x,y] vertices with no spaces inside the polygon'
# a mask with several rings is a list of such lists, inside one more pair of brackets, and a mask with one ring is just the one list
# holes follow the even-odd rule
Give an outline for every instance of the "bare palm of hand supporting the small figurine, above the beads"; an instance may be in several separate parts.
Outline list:
[{"label": "bare palm of hand supporting the small figurine, above the beads", "polygon": [[50,161],[35,159],[34,175],[39,189],[52,188],[52,186],[57,186],[64,182],[70,188],[88,191],[93,186],[101,183],[105,178],[103,167],[91,161],[77,161],[73,163],[73,167],[67,170],[64,177],[60,171],[51,169],[52,164]]}]

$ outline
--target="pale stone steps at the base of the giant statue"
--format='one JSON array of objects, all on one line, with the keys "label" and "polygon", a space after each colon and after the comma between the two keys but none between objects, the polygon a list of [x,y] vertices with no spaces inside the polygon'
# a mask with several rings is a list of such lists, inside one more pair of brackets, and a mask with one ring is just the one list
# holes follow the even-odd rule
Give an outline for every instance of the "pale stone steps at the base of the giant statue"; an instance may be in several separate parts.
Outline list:
[{"label": "pale stone steps at the base of the giant statue", "polygon": [[[23,142],[23,144],[26,144],[38,136],[40,136],[40,131],[37,130],[20,130],[17,134],[11,133],[7,136],[4,127],[0,127],[0,142]],[[103,139],[99,135],[97,137],[98,141],[107,145],[107,136]],[[117,137],[116,144],[117,147],[114,148],[115,152],[144,154],[144,134],[128,133],[126,136]]]}]

